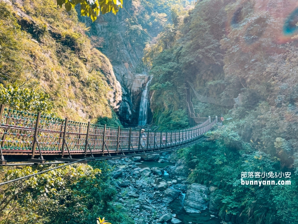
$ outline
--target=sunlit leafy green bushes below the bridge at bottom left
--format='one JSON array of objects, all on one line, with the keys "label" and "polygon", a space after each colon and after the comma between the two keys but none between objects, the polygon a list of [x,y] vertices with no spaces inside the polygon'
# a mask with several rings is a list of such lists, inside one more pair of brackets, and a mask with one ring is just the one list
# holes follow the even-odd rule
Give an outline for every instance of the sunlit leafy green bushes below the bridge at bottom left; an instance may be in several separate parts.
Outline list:
[{"label": "sunlit leafy green bushes below the bridge at bottom left", "polygon": [[[54,166],[54,165],[52,165]],[[48,165],[1,167],[1,179],[15,179]],[[111,223],[132,220],[114,205],[106,162],[74,164],[0,187],[0,223],[96,223],[98,216]]]}]

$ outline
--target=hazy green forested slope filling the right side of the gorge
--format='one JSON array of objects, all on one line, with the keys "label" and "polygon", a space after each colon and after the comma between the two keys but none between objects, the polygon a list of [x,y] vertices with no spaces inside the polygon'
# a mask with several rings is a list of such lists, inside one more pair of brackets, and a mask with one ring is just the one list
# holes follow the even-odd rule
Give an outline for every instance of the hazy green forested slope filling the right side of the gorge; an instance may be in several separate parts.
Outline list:
[{"label": "hazy green forested slope filling the right side of the gorge", "polygon": [[[295,7],[287,5],[281,16],[269,1],[198,1],[194,8],[173,8],[171,35],[163,32],[145,48],[153,122],[162,129],[185,110],[186,81],[203,96],[240,93],[235,108],[198,102],[193,95],[200,116],[232,119],[210,132],[209,141],[179,152],[189,180],[215,187],[215,210],[236,223],[298,222],[297,33],[282,33]],[[241,172],[270,171],[291,172],[291,185],[240,183]]]}]

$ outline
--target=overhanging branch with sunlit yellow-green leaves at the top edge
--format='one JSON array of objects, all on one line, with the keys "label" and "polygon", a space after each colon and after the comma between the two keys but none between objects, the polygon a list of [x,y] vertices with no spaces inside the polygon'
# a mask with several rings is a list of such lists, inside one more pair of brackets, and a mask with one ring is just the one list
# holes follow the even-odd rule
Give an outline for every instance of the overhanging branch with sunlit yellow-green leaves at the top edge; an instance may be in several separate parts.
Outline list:
[{"label": "overhanging branch with sunlit yellow-green leaves at the top edge", "polygon": [[122,0],[57,0],[57,5],[64,7],[67,12],[74,8],[77,4],[81,4],[81,16],[90,16],[94,22],[100,11],[102,14],[113,12],[115,15],[122,8]]}]

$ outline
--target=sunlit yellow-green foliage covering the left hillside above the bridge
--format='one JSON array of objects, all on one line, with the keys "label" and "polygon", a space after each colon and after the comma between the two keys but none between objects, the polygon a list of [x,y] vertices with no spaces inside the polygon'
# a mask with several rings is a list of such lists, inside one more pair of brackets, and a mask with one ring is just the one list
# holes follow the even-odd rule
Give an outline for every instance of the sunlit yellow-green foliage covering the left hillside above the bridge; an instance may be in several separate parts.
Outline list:
[{"label": "sunlit yellow-green foliage covering the left hillside above the bridge", "polygon": [[77,121],[111,117],[107,57],[92,48],[74,9],[53,0],[0,2],[0,83],[49,94],[52,112]]}]

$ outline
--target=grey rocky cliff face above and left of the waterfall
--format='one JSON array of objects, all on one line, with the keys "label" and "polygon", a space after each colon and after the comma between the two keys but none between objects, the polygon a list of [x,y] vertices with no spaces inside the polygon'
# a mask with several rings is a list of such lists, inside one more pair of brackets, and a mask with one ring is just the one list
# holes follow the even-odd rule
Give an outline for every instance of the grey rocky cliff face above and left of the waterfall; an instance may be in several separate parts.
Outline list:
[{"label": "grey rocky cliff face above and left of the waterfall", "polygon": [[[123,2],[123,7],[151,36],[157,36],[162,26],[142,4],[143,1],[128,0]],[[148,82],[142,62],[143,49],[151,39],[125,10],[120,9],[116,16],[112,13],[100,15],[93,23],[86,17],[80,17],[80,21],[90,27],[94,46],[108,56],[121,84],[122,101],[117,108],[120,120],[123,124],[136,124],[142,91]],[[165,13],[155,15],[167,17]]]}]

